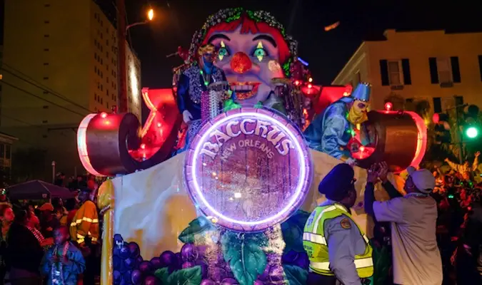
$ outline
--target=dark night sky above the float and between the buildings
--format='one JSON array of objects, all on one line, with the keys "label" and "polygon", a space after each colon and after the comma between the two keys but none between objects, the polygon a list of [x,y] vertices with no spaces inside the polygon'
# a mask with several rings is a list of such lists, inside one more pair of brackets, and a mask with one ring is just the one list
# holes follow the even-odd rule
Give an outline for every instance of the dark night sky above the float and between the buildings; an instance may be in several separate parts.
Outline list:
[{"label": "dark night sky above the float and between the buildings", "polygon": [[[0,9],[3,1],[19,0],[0,0]],[[95,1],[108,14],[115,14],[115,0]],[[156,11],[153,22],[129,30],[131,44],[141,59],[141,84],[149,88],[171,86],[171,68],[179,66],[181,59],[166,55],[176,52],[177,46],[189,48],[192,34],[201,28],[206,17],[224,8],[243,6],[271,12],[298,41],[299,56],[308,61],[315,83],[322,85],[331,83],[361,41],[383,38],[386,28],[482,31],[480,0],[125,1],[129,24],[144,21],[149,7]],[[341,22],[338,28],[324,31],[324,26],[336,21]],[[3,38],[1,29],[0,38]]]}]

